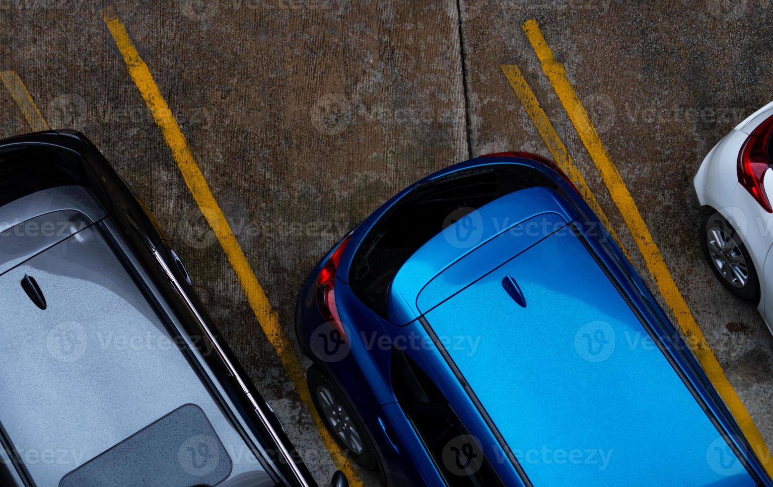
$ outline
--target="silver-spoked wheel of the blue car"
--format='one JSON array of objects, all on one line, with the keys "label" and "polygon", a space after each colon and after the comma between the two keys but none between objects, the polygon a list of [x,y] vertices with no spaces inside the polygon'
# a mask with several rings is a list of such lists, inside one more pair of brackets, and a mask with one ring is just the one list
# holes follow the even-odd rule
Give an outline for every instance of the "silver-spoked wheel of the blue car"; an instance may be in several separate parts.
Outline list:
[{"label": "silver-spoked wheel of the blue car", "polygon": [[339,386],[318,365],[308,369],[306,381],[322,422],[346,456],[366,470],[376,470],[376,448]]}]

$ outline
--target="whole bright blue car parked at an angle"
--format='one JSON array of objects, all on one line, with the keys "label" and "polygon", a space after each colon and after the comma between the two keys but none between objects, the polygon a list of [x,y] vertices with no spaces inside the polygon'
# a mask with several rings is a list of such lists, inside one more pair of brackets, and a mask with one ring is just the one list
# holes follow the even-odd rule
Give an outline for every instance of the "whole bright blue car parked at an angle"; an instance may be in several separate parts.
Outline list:
[{"label": "whole bright blue car parked at an angle", "polygon": [[554,163],[415,183],[319,262],[296,331],[325,425],[387,485],[771,485]]}]

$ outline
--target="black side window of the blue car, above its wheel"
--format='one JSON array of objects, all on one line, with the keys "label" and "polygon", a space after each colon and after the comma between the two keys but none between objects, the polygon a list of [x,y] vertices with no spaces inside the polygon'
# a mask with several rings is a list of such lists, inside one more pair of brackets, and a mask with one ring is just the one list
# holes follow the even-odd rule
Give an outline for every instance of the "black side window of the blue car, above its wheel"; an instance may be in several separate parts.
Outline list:
[{"label": "black side window of the blue car, above its wheel", "polygon": [[416,362],[398,350],[392,355],[392,384],[397,401],[447,485],[504,487],[440,389]]}]

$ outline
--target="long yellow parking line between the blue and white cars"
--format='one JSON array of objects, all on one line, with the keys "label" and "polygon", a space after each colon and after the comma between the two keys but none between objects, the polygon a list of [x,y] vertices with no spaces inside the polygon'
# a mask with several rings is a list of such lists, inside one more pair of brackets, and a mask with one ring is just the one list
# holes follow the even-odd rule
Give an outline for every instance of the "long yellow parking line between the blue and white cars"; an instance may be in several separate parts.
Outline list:
[{"label": "long yellow parking line between the blue and white cars", "polygon": [[771,458],[768,446],[765,444],[757,425],[754,424],[754,420],[751,419],[746,406],[744,406],[741,398],[738,397],[735,389],[733,389],[733,386],[727,379],[722,366],[717,361],[717,356],[714,355],[713,350],[703,336],[703,332],[700,331],[700,327],[698,327],[695,317],[693,317],[690,307],[687,306],[682,293],[676,287],[673,276],[669,273],[658,246],[652,240],[652,235],[650,235],[644,218],[639,213],[638,207],[630,191],[628,191],[628,187],[622,180],[615,163],[610,159],[604,143],[601,142],[598,131],[593,122],[591,122],[591,118],[587,115],[587,111],[580,99],[577,98],[577,93],[574,92],[574,88],[569,82],[564,65],[553,56],[553,50],[547,45],[547,41],[536,20],[532,19],[524,23],[523,31],[526,33],[526,37],[529,38],[529,42],[540,59],[542,69],[550,80],[550,84],[553,85],[553,89],[556,91],[561,104],[564,105],[564,109],[577,130],[577,134],[580,135],[580,139],[588,153],[590,153],[591,159],[598,167],[612,199],[620,210],[625,224],[628,225],[628,229],[631,231],[638,249],[642,252],[642,256],[644,256],[649,272],[655,278],[660,293],[662,293],[666,303],[673,311],[676,321],[682,328],[686,338],[690,341],[696,358],[703,365],[706,375],[714,388],[717,389],[717,392],[720,393],[720,396],[722,396],[730,412],[733,413],[747,441],[754,448],[754,452],[764,465],[765,470],[768,471],[768,474],[773,475],[773,461],[771,461],[773,458]]}]

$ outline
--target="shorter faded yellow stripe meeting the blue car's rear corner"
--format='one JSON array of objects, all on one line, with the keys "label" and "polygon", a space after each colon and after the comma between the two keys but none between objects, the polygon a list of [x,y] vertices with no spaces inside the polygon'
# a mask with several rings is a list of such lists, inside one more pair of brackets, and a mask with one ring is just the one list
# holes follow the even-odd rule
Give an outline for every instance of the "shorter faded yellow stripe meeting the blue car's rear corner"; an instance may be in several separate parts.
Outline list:
[{"label": "shorter faded yellow stripe meeting the blue car's rear corner", "polygon": [[577,186],[577,189],[580,190],[580,194],[587,202],[588,206],[590,206],[591,210],[593,210],[598,218],[601,219],[601,223],[607,228],[612,235],[612,238],[615,238],[615,242],[618,242],[618,245],[625,253],[625,256],[628,257],[628,259],[631,259],[631,256],[628,256],[628,250],[623,246],[615,228],[612,228],[607,215],[604,214],[604,210],[602,210],[601,205],[598,204],[596,195],[591,191],[591,187],[587,185],[587,181],[580,172],[580,169],[574,164],[572,156],[570,156],[569,151],[567,151],[567,146],[564,146],[564,141],[561,140],[558,136],[558,132],[553,128],[553,124],[550,123],[550,119],[547,118],[547,114],[540,106],[540,102],[537,101],[536,96],[534,96],[534,92],[526,81],[526,78],[523,77],[519,67],[515,64],[502,64],[500,67],[507,77],[507,81],[510,82],[512,91],[516,92],[518,99],[521,101],[521,105],[523,105],[529,118],[531,118],[536,131],[540,132],[540,136],[543,141],[545,141],[547,149],[550,150],[550,153],[553,155],[553,160],[556,161],[561,170],[563,170],[569,179],[572,180],[574,185]]}]

